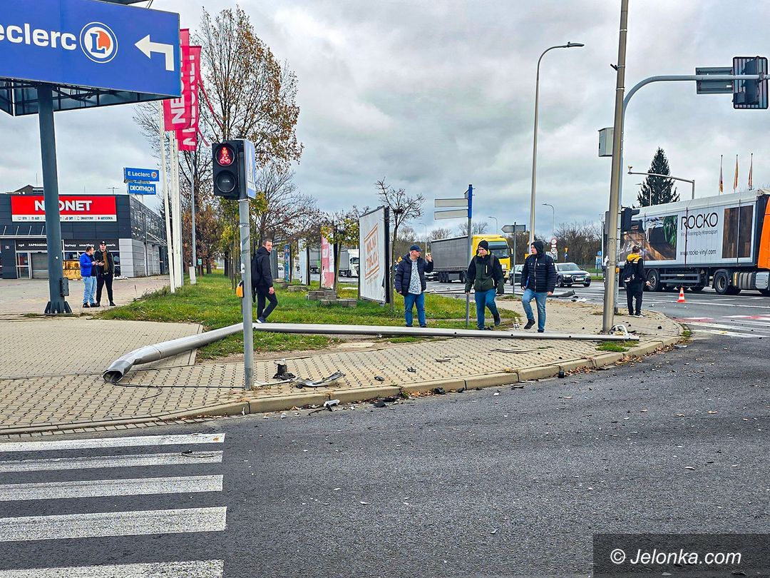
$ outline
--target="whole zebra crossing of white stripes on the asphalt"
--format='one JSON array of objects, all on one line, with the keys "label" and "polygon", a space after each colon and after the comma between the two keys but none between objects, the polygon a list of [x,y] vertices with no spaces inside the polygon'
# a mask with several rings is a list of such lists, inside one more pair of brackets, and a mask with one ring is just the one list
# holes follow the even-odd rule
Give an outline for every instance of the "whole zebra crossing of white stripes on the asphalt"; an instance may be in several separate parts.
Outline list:
[{"label": "whole zebra crossing of white stripes on the asphalt", "polygon": [[[0,550],[23,550],[18,559],[2,556],[0,578],[221,578],[223,560],[196,560],[200,549],[190,556],[182,549],[178,557],[191,560],[159,562],[162,553],[148,552],[146,563],[115,564],[114,556],[93,560],[87,545],[119,536],[224,532],[223,476],[216,473],[223,462],[216,445],[224,439],[222,433],[0,443]],[[150,473],[137,475],[142,472]],[[163,496],[171,502],[158,507]],[[79,563],[42,567],[37,556],[24,555],[35,553],[35,543],[45,544],[55,561]],[[67,546],[70,558],[55,557],[58,544]],[[82,559],[80,544],[91,553]],[[141,560],[137,550],[131,554]]]}]

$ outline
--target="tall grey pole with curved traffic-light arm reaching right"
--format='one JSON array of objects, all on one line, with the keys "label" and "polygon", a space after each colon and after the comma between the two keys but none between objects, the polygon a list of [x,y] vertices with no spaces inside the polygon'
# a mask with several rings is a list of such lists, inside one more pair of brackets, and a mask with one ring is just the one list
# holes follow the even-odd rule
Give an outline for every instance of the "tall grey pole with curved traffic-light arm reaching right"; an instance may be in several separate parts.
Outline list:
[{"label": "tall grey pole with curved traffic-light arm reaching right", "polygon": [[[618,50],[618,82],[615,98],[615,123],[612,154],[612,175],[610,180],[610,211],[608,223],[607,257],[608,265],[604,275],[604,314],[602,317],[602,332],[609,333],[614,325],[614,311],[616,307],[616,295],[618,279],[615,269],[618,265],[618,244],[620,243],[619,213],[623,198],[623,180],[621,178],[621,166],[623,166],[623,129],[625,113],[631,97],[652,82],[698,82],[698,81],[731,81],[731,80],[767,80],[770,75],[765,74],[694,74],[682,76],[650,76],[641,80],[628,91],[623,98],[625,82],[625,37],[628,25],[628,0],[623,0],[621,6],[621,43]],[[621,100],[622,99],[622,100]],[[618,101],[621,100],[619,103]],[[618,106],[620,104],[620,106]]]}]

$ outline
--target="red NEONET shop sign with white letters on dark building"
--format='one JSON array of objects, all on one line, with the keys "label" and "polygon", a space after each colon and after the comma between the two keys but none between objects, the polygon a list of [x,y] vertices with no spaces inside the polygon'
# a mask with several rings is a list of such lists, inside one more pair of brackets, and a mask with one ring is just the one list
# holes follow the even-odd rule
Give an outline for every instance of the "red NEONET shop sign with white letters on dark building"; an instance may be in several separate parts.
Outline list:
[{"label": "red NEONET shop sign with white letters on dark building", "polygon": [[[115,197],[95,195],[59,196],[61,220],[105,221],[118,220],[115,212]],[[11,220],[44,221],[45,203],[42,195],[13,195],[11,197]]]}]

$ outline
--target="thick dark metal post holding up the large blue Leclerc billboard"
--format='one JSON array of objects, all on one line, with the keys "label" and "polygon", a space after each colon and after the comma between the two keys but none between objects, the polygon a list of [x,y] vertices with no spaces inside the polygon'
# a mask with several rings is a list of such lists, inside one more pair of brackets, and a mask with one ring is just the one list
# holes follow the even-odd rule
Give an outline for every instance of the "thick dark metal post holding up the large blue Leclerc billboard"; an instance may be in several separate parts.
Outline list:
[{"label": "thick dark metal post holding up the large blue Leclerc billboard", "polygon": [[48,244],[49,302],[46,315],[72,313],[65,299],[62,270],[62,223],[59,220],[59,176],[56,173],[56,134],[53,120],[53,91],[38,86],[38,122],[43,166],[43,203],[45,204],[45,242]]}]

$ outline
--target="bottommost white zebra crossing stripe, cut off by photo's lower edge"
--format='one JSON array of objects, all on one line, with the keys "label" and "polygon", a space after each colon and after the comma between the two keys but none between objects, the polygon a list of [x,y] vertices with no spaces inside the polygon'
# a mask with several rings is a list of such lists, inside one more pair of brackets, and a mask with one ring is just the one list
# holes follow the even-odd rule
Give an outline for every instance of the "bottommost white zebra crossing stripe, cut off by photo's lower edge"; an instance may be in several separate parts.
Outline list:
[{"label": "bottommost white zebra crossing stripe, cut off by photo's lower edge", "polygon": [[223,560],[0,570],[0,578],[221,578]]}]

